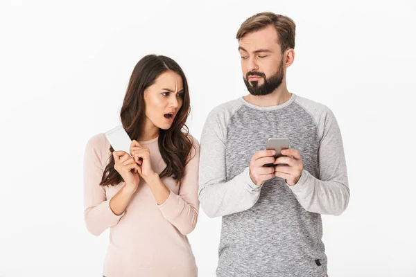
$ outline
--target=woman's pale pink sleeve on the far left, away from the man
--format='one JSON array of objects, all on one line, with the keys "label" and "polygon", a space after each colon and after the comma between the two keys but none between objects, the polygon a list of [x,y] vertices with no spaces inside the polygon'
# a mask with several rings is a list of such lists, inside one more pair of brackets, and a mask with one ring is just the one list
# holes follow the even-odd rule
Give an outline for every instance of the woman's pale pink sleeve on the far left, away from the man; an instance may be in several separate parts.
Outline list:
[{"label": "woman's pale pink sleeve on the far left, away from the man", "polygon": [[124,215],[112,212],[105,188],[99,185],[105,168],[104,147],[105,136],[99,134],[89,139],[84,154],[84,219],[87,230],[93,235],[100,235]]}]

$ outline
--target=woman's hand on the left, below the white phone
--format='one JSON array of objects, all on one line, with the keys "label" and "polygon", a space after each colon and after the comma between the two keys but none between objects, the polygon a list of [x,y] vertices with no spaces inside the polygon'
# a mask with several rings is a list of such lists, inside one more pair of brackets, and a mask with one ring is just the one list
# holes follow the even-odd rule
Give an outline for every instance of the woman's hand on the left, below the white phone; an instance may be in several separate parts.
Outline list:
[{"label": "woman's hand on the left, below the white phone", "polygon": [[114,151],[114,169],[119,172],[125,182],[125,187],[134,193],[139,186],[139,166],[135,160],[124,151]]}]

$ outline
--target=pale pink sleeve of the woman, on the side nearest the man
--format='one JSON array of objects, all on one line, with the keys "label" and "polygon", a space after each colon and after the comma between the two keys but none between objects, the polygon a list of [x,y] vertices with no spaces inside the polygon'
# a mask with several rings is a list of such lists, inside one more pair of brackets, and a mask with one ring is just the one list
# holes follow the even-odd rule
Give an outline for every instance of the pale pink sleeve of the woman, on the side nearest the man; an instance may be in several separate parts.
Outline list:
[{"label": "pale pink sleeve of the woman, on the side nearest the man", "polygon": [[[193,139],[193,138],[192,138]],[[193,148],[185,166],[184,177],[180,183],[179,195],[171,191],[166,201],[158,205],[162,215],[175,226],[180,233],[187,235],[195,229],[198,221],[198,166],[200,145],[193,139]]]}]

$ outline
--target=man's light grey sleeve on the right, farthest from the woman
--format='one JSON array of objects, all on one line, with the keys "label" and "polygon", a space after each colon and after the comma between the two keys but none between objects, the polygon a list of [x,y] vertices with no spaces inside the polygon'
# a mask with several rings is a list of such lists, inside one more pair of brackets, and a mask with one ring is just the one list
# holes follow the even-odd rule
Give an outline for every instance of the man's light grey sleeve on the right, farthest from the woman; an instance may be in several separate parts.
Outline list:
[{"label": "man's light grey sleeve on the right, farthest from the woman", "polygon": [[319,179],[303,170],[297,184],[289,188],[306,211],[340,215],[349,202],[347,167],[340,128],[327,107],[316,121],[318,129],[322,129],[318,150]]}]

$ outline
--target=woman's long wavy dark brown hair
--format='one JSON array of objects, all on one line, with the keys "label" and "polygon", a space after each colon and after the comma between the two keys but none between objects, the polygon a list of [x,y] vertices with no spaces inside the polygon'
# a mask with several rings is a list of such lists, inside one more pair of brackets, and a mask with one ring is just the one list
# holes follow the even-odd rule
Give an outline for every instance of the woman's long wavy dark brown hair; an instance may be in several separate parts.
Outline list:
[{"label": "woman's long wavy dark brown hair", "polygon": [[[140,125],[144,119],[145,102],[144,91],[150,87],[160,74],[166,71],[174,71],[182,77],[184,96],[182,107],[175,116],[171,128],[159,129],[159,151],[166,163],[166,168],[159,174],[164,177],[173,177],[180,184],[184,177],[184,168],[189,161],[189,154],[193,142],[189,137],[189,129],[185,124],[191,111],[188,82],[184,72],[170,57],[162,55],[146,55],[137,62],[128,83],[127,92],[121,107],[121,123],[130,139],[137,139],[140,135]],[[114,150],[110,147],[110,152]],[[105,167],[101,186],[114,186],[123,181],[123,178],[114,169],[114,157],[111,154],[110,161]]]}]

